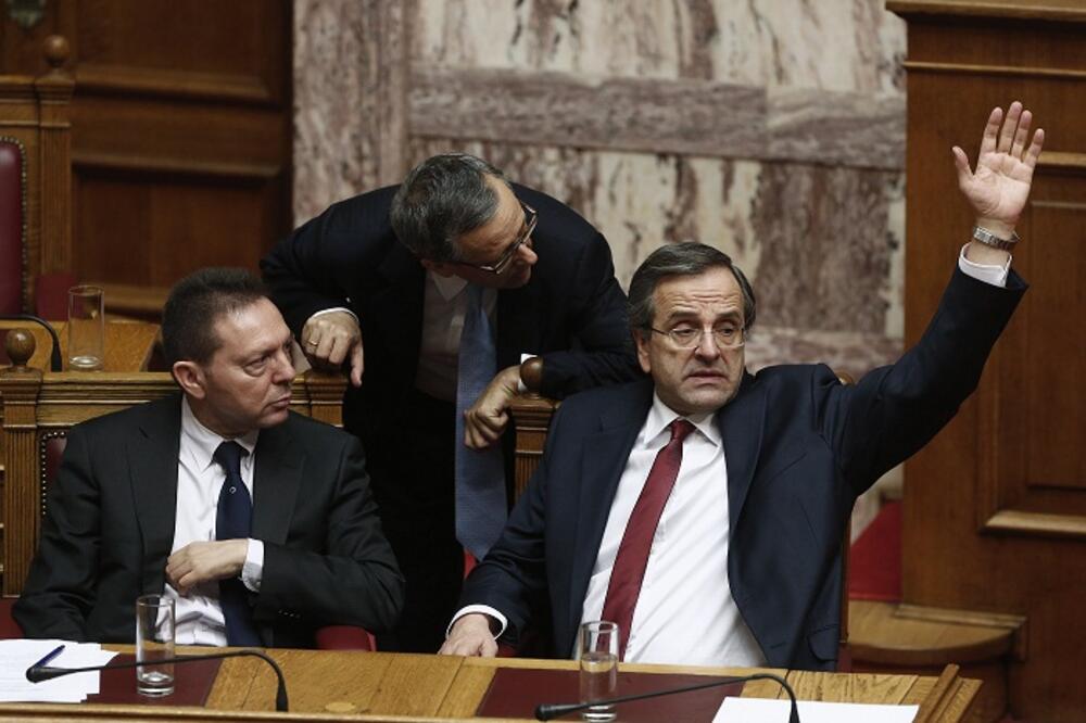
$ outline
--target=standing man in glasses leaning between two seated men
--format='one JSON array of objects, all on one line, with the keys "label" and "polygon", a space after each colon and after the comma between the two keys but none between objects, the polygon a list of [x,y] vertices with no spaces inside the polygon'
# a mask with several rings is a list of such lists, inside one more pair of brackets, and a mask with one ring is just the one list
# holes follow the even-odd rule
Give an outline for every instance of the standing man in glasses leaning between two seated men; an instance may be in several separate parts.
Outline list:
[{"label": "standing man in glasses leaning between two seated men", "polygon": [[[522,355],[541,357],[554,397],[640,376],[607,242],[551,196],[446,154],[399,187],[331,206],[263,270],[310,357],[350,366],[344,422],[369,455],[407,579],[397,639],[381,646],[432,652],[455,610],[464,548],[481,558],[506,518],[504,432]],[[464,341],[480,306],[483,352]],[[466,390],[465,370],[484,383]],[[492,473],[467,486],[462,465],[484,459]]]}]

